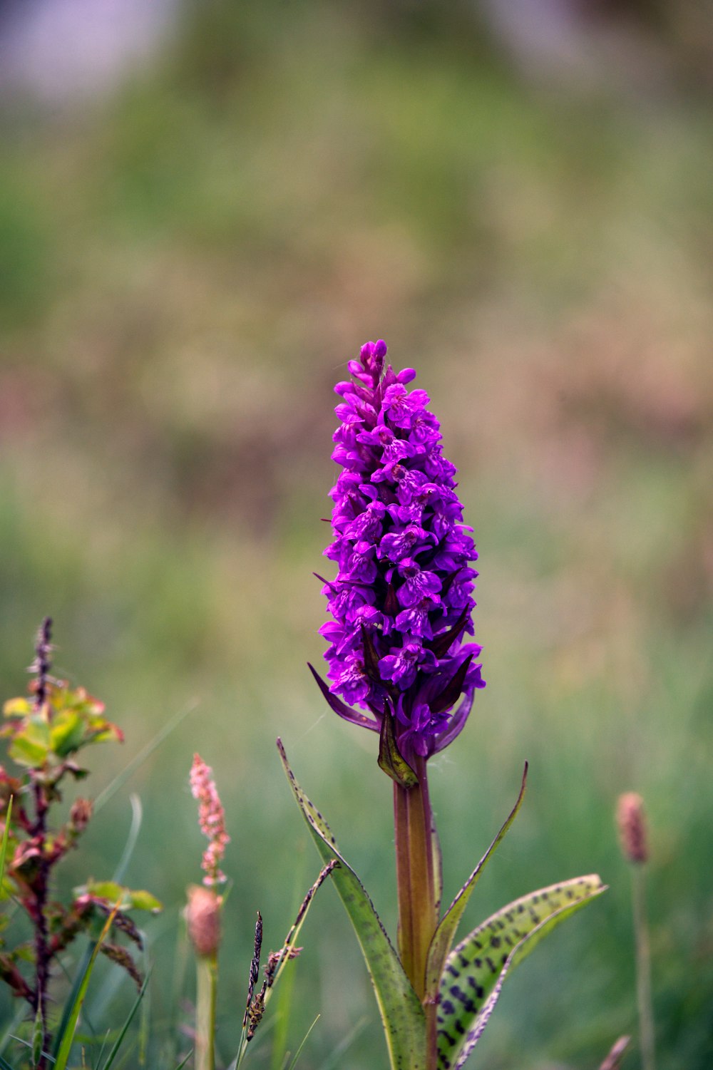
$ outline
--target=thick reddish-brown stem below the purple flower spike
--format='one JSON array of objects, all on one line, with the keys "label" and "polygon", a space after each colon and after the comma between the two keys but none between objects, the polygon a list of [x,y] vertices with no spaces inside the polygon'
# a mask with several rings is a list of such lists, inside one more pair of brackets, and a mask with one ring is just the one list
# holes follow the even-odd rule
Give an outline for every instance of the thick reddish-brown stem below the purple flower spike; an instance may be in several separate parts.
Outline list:
[{"label": "thick reddish-brown stem below the purple flower spike", "polygon": [[413,788],[394,782],[398,951],[419,999],[426,987],[428,948],[438,924],[433,816],[426,761],[416,759]]}]

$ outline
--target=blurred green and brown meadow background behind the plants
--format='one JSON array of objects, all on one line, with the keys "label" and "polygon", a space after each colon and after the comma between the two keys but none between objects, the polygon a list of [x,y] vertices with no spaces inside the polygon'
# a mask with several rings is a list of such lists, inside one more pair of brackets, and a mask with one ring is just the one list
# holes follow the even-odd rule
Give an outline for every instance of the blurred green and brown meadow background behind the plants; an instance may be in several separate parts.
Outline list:
[{"label": "blurred green and brown meadow background behind the plants", "polygon": [[[509,982],[473,1066],[594,1068],[636,1033],[626,790],[651,827],[661,1066],[712,1065],[710,30],[693,0],[211,0],[167,12],[121,77],[5,82],[3,697],[51,614],[57,672],[126,733],[95,750],[94,794],[192,709],[65,876],[110,874],[138,793],[126,882],[166,904],[147,927],[149,1066],[189,1048],[195,750],[232,837],[225,1064],[256,911],[277,947],[319,868],[277,734],[395,930],[390,784],[305,668],[323,649],[332,385],[378,337],[431,396],[481,553],[488,687],[431,763],[446,896],[525,759],[524,811],[468,920],[579,873],[611,886]],[[303,943],[292,1050],[321,1018],[301,1066],[385,1066],[329,887]],[[118,974],[97,1030],[132,999]],[[251,1059],[270,1066],[267,1029]]]}]

